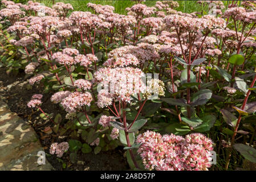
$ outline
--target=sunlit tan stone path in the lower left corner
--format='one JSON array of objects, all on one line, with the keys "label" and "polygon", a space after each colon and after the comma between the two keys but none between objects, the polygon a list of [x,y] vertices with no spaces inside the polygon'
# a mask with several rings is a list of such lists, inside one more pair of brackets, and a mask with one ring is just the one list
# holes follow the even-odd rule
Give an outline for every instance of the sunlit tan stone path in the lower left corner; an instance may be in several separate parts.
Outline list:
[{"label": "sunlit tan stone path in the lower left corner", "polygon": [[39,151],[44,150],[34,129],[0,98],[0,170],[52,170],[47,159],[46,164],[37,163]]}]

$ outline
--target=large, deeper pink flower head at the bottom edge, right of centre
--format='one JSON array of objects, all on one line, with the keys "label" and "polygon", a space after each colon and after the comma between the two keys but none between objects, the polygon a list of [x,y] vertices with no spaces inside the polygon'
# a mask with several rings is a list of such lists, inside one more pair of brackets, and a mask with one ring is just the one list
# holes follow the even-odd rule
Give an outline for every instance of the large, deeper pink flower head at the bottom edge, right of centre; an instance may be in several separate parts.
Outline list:
[{"label": "large, deeper pink flower head at the bottom edge, right of centre", "polygon": [[211,166],[213,142],[200,133],[184,138],[147,131],[140,134],[136,142],[141,144],[137,152],[143,159],[145,169],[201,171]]}]

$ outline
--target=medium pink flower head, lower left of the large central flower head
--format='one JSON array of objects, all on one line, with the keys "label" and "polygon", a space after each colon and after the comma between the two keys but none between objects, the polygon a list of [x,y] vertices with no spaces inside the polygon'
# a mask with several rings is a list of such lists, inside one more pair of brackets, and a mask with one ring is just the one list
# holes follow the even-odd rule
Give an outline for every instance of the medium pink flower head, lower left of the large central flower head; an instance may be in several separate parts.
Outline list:
[{"label": "medium pink flower head, lower left of the large central flower head", "polygon": [[83,106],[90,106],[92,95],[90,92],[73,92],[60,102],[68,113],[75,113],[77,110],[82,109]]}]

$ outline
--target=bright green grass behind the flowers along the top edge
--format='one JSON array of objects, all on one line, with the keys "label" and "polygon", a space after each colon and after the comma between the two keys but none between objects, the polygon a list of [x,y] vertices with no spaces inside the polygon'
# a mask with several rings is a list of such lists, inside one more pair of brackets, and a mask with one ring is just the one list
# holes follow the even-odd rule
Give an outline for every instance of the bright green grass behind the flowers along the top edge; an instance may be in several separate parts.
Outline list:
[{"label": "bright green grass behind the flowers along the top edge", "polygon": [[[44,3],[46,6],[52,6],[52,0],[39,0],[38,2]],[[125,11],[125,8],[131,7],[135,5],[134,1],[122,1],[122,0],[64,0],[64,1],[58,1],[55,0],[55,2],[64,2],[64,3],[71,3],[71,5],[74,7],[75,11],[89,11],[90,9],[87,8],[87,3],[95,3],[100,5],[111,5],[115,7],[115,13],[119,14],[126,14],[127,11]],[[180,7],[178,7],[176,10],[182,11],[184,13],[192,13],[194,11],[201,11],[202,7],[201,5],[197,4],[197,1],[178,1],[180,4]],[[147,6],[154,6],[156,4],[156,1],[145,1],[143,4]]]}]

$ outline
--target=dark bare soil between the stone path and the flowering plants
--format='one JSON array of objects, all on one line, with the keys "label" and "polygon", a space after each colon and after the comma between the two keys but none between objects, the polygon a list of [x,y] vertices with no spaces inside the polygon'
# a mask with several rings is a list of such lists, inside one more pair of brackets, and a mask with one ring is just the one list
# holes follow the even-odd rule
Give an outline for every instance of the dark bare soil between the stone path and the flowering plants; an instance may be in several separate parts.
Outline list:
[{"label": "dark bare soil between the stone path and the flowering plants", "polygon": [[[68,154],[65,153],[61,159],[56,155],[50,155],[49,149],[53,142],[67,141],[67,137],[59,137],[58,135],[45,134],[43,129],[47,126],[53,126],[50,121],[44,121],[39,117],[39,111],[27,107],[27,102],[33,94],[42,94],[39,89],[28,88],[26,74],[20,71],[17,75],[12,73],[7,74],[5,68],[0,68],[0,96],[3,98],[10,110],[17,113],[25,122],[29,122],[34,128],[40,143],[46,151],[46,158],[56,170],[128,170],[129,166],[124,158],[124,151],[122,147],[117,147],[115,150],[101,151],[100,154],[95,155],[93,152],[83,154],[78,152],[78,162],[71,163]],[[52,104],[50,101],[53,93],[43,94],[42,109],[46,113],[60,113],[62,117],[66,113],[59,105]]]}]

